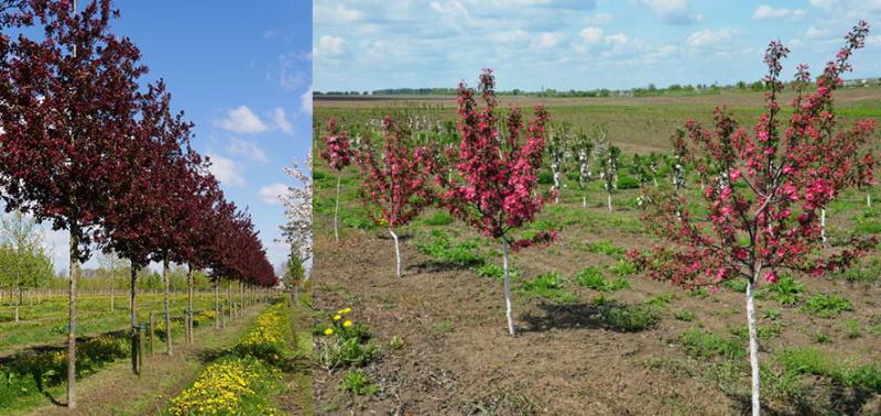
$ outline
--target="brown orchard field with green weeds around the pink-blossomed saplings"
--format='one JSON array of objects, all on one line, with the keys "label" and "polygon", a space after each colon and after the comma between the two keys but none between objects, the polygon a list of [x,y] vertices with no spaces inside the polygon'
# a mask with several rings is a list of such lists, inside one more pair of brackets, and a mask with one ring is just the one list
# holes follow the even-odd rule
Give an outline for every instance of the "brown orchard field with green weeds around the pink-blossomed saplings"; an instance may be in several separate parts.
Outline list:
[{"label": "brown orchard field with green weeds around the pink-blossomed saplings", "polygon": [[[784,94],[781,102],[792,98]],[[689,118],[711,128],[714,106],[727,106],[751,130],[763,111],[763,94],[502,96],[500,101],[500,109],[518,105],[524,113],[544,105],[552,123],[567,123],[572,131],[603,125],[608,141],[622,151],[613,210],[602,180],[594,179],[581,191],[577,166],[564,169],[558,202],[547,201],[523,227],[532,234],[556,230],[557,239],[511,258],[518,329],[511,338],[497,241],[444,209],[428,208],[396,229],[403,263],[399,278],[392,238],[359,198],[363,175],[355,167],[340,171],[337,242],[338,174],[316,162],[316,413],[749,413],[746,281],[683,291],[652,280],[626,253],[664,244],[640,220],[638,197],[640,183],[670,188],[673,180],[664,164],[652,175],[657,185],[640,180],[633,155],[672,154],[670,138],[676,129]],[[840,89],[835,102],[844,125],[881,120],[879,88]],[[788,113],[783,105],[782,117]],[[445,122],[458,120],[455,97],[316,96],[315,155],[325,150],[328,119],[352,129],[351,139],[381,131],[385,114],[413,135],[434,127],[442,131]],[[545,156],[541,191],[553,185],[551,176]],[[681,193],[693,212],[707,215],[695,172]],[[829,204],[825,232],[830,245],[881,234],[881,208],[869,206],[867,194],[872,200],[880,196],[875,187],[849,189]],[[765,414],[881,414],[879,274],[875,252],[847,272],[819,277],[785,272],[776,283],[761,281],[755,308]],[[351,311],[342,319],[354,321],[358,333],[325,336],[336,328],[334,315],[346,307]],[[336,349],[352,337],[357,341],[349,342],[349,359],[339,359]]]}]

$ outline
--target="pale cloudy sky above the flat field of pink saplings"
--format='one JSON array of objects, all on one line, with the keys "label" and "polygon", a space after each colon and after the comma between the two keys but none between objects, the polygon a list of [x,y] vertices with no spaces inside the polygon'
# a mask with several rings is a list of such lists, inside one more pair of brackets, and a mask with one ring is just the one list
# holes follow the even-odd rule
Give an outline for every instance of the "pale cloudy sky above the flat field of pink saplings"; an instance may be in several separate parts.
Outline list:
[{"label": "pale cloudy sky above the flat field of pink saplings", "polygon": [[[859,19],[873,24],[853,77],[881,76],[881,0],[315,1],[315,89],[455,87],[492,67],[502,89],[731,84],[764,73],[779,39],[788,69],[818,73]],[[787,73],[791,74],[791,73]]]}]

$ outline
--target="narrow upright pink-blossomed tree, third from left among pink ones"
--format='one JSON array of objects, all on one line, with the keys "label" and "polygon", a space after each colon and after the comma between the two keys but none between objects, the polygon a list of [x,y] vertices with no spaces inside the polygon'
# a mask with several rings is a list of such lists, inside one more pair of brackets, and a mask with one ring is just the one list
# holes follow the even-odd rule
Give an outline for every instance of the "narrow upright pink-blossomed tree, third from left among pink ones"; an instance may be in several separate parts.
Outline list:
[{"label": "narrow upright pink-blossomed tree, third from left among pink ones", "polygon": [[547,242],[555,237],[553,231],[522,240],[512,237],[514,230],[532,221],[544,206],[544,199],[536,195],[536,175],[542,166],[548,114],[536,107],[535,118],[523,138],[523,117],[519,108],[513,108],[501,129],[496,113],[494,84],[492,72],[485,69],[478,86],[482,107],[477,102],[476,90],[459,85],[461,143],[456,173],[435,177],[445,189],[440,200],[450,214],[502,244],[505,316],[508,332],[513,336],[509,250]]}]

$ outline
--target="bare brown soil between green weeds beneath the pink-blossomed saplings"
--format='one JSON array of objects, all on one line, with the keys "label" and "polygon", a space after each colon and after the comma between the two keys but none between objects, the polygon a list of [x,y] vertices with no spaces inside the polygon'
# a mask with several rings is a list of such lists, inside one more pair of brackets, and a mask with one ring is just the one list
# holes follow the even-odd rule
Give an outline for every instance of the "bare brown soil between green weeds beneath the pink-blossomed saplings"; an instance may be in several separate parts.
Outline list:
[{"label": "bare brown soil between green weeds beneath the pink-blossomed saplings", "polygon": [[[602,210],[599,204],[589,209]],[[714,382],[707,363],[689,358],[678,342],[685,329],[696,326],[720,335],[743,327],[742,294],[724,291],[698,298],[642,275],[631,276],[631,289],[606,295],[627,304],[659,294],[672,294],[674,299],[655,328],[623,332],[596,319],[596,307],[589,299],[599,292],[569,284],[583,300],[555,304],[514,295],[519,335],[511,338],[505,331],[501,284],[494,280],[438,263],[407,242],[402,244],[405,275],[396,278],[389,238],[354,230],[346,230],[346,234],[340,244],[326,234],[317,236],[315,309],[351,306],[354,319],[370,326],[383,353],[366,371],[380,391],[372,397],[350,395],[339,387],[345,370],[316,369],[317,414],[736,415],[748,408],[744,390],[719,387],[722,384]],[[605,227],[567,228],[561,237],[547,249],[513,256],[525,278],[552,270],[570,277],[587,265],[613,264],[602,254],[574,251],[578,243],[606,239],[642,248],[650,242]],[[779,308],[780,321],[785,322],[780,336],[762,341],[761,359],[769,360],[769,352],[776,349],[812,346],[846,352],[842,360],[881,362],[881,337],[848,339],[841,329],[846,317],[864,322],[881,316],[878,283],[818,278],[808,281],[807,286],[808,293],[844,294],[853,303],[855,311],[838,319],[822,319],[797,307],[760,300],[759,316]],[[697,318],[690,322],[675,319],[674,314],[681,310],[693,311]],[[830,333],[833,341],[813,342],[813,335],[819,330]],[[403,349],[387,348],[393,336],[404,339]],[[737,372],[735,377],[736,384],[748,388],[748,371]],[[823,391],[824,382],[814,382]],[[845,412],[881,412],[878,395],[855,399],[847,398],[847,392],[831,396],[823,392],[812,398],[815,407],[794,408],[769,397],[765,410],[811,414],[828,405]],[[840,396],[836,398],[836,394]]]}]

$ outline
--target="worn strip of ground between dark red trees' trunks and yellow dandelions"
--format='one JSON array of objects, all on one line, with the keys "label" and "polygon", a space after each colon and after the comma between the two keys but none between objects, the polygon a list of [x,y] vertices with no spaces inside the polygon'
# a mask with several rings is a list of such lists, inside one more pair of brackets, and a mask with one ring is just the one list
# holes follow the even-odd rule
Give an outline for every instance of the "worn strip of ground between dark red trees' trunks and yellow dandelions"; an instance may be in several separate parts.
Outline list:
[{"label": "worn strip of ground between dark red trees' trunks and yellow dandelions", "polygon": [[[183,338],[174,344],[174,354],[157,353],[144,358],[141,376],[131,373],[131,364],[123,360],[97,374],[79,381],[78,408],[47,404],[31,410],[31,415],[153,415],[164,409],[171,397],[195,380],[199,371],[222,349],[233,344],[244,328],[265,305],[253,307],[243,318],[215,330],[214,325],[196,329],[195,344],[187,346]],[[161,348],[157,349],[162,350]],[[56,397],[63,402],[64,397]]]}]

